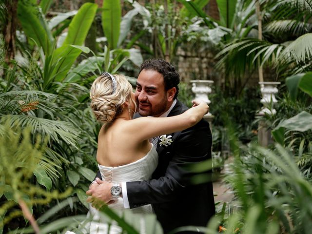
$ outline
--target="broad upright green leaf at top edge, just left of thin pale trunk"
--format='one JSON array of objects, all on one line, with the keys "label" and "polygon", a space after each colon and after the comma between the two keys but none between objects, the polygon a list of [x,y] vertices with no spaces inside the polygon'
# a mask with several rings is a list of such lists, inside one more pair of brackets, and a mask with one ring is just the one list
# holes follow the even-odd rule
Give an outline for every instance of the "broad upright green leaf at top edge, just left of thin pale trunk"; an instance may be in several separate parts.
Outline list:
[{"label": "broad upright green leaf at top edge, just left of thin pale trunk", "polygon": [[237,0],[216,0],[222,26],[233,28]]}]

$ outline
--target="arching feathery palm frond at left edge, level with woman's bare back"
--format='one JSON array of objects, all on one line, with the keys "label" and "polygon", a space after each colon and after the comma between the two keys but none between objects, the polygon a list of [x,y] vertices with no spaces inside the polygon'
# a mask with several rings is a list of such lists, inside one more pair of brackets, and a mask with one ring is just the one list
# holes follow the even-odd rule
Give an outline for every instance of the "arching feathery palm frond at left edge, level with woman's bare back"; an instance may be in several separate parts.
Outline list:
[{"label": "arching feathery palm frond at left edge, level with woman's bare back", "polygon": [[68,122],[60,120],[50,120],[33,116],[26,115],[6,115],[0,120],[0,123],[8,120],[10,125],[31,127],[32,134],[41,134],[47,137],[50,141],[51,139],[60,143],[64,141],[68,145],[72,145],[77,148],[78,132],[76,129]]}]

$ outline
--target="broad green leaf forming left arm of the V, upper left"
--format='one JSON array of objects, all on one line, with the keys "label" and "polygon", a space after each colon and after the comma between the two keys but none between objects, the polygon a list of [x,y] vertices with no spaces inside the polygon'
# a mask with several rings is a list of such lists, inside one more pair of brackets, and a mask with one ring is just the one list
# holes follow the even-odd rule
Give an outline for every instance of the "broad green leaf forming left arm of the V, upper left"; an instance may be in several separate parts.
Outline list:
[{"label": "broad green leaf forming left arm of the V, upper left", "polygon": [[42,25],[42,21],[39,19],[41,16],[35,0],[18,2],[18,18],[26,36],[34,39],[47,54],[50,51],[53,38],[51,32]]}]

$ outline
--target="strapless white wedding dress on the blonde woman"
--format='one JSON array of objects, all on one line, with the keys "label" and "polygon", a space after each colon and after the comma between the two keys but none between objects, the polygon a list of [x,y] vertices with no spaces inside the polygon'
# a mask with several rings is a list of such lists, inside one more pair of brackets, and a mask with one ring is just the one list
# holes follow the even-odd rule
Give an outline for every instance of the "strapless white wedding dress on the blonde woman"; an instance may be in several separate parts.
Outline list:
[{"label": "strapless white wedding dress on the blonde woman", "polygon": [[[107,167],[98,164],[98,169],[101,173],[102,180],[121,183],[131,181],[143,181],[149,180],[156,169],[158,164],[158,155],[154,146],[151,150],[142,158],[130,164],[118,166],[118,167]],[[120,197],[115,199],[113,204],[108,205],[110,209],[113,209],[118,214],[121,214],[125,209],[123,206],[123,199]],[[145,205],[131,209],[132,213],[136,214],[151,214],[152,206]],[[98,210],[90,206],[88,216],[92,217],[92,221],[88,225],[84,226],[84,230],[80,230],[83,233],[89,234],[120,234],[122,229],[113,221],[110,225],[107,223],[107,217],[100,214]],[[144,229],[144,228],[143,228]],[[88,232],[90,230],[90,232]],[[74,234],[73,232],[66,232],[66,234]]]}]

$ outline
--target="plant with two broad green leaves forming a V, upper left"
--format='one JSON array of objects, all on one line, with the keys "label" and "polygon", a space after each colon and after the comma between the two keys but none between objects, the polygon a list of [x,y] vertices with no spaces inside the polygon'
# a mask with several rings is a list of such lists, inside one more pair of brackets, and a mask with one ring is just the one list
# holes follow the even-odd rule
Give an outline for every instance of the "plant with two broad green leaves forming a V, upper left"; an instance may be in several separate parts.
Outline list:
[{"label": "plant with two broad green leaves forming a V, upper left", "polygon": [[[34,56],[40,57],[41,61],[36,77],[40,76],[43,83],[37,83],[38,90],[48,91],[55,88],[55,82],[62,82],[66,78],[79,54],[82,51],[89,53],[89,49],[82,45],[97,8],[97,4],[94,3],[83,4],[69,24],[66,38],[62,42],[59,39],[57,43],[40,11],[41,8],[32,1],[19,1],[18,15],[23,31],[29,38],[29,43],[33,40],[42,48],[39,54]],[[53,26],[50,24],[50,27]],[[31,60],[32,56],[29,56],[29,59]]]}]

